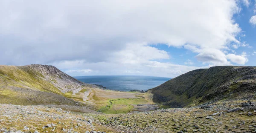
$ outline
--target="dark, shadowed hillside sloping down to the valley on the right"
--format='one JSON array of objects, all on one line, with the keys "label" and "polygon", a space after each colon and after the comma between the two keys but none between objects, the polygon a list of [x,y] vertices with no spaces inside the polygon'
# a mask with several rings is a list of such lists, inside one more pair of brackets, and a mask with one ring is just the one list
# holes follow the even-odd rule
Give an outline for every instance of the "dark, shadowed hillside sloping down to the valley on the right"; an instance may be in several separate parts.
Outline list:
[{"label": "dark, shadowed hillside sloping down to the valley on the right", "polygon": [[197,69],[149,90],[153,101],[185,107],[221,99],[255,98],[256,67],[218,66]]}]

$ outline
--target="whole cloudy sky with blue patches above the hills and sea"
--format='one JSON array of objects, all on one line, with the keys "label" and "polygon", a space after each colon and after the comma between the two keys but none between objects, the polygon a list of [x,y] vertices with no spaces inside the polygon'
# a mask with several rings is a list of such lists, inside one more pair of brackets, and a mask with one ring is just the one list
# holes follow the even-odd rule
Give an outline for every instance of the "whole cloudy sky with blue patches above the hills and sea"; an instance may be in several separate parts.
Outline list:
[{"label": "whole cloudy sky with blue patches above the hills and sea", "polygon": [[170,78],[256,66],[256,0],[0,0],[0,64]]}]

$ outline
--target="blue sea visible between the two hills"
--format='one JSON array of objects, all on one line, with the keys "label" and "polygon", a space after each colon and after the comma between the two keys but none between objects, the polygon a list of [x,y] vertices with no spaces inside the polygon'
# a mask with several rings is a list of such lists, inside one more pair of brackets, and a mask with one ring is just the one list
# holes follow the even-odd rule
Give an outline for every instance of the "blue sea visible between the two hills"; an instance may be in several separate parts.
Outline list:
[{"label": "blue sea visible between the two hills", "polygon": [[171,79],[150,76],[80,76],[75,78],[84,83],[99,84],[109,90],[119,91],[148,90]]}]

